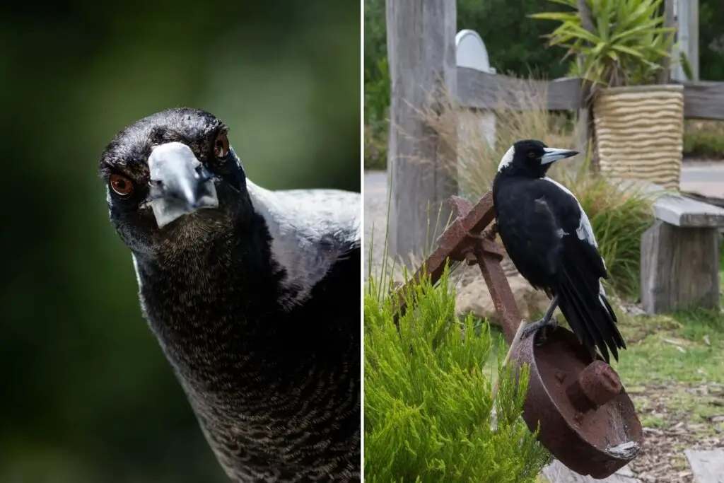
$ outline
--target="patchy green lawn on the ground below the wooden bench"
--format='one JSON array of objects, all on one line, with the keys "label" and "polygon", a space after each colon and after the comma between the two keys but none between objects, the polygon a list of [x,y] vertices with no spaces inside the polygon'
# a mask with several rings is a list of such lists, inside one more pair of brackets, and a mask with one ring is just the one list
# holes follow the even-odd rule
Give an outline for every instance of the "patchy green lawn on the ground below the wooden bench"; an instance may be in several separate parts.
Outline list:
[{"label": "patchy green lawn on the ground below the wooden bench", "polygon": [[[724,287],[724,250],[719,263]],[[724,414],[721,311],[698,308],[670,315],[624,316],[620,330],[628,350],[612,365],[644,427],[670,427],[683,421],[702,437],[724,431],[724,421],[710,419]]]}]

